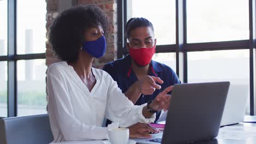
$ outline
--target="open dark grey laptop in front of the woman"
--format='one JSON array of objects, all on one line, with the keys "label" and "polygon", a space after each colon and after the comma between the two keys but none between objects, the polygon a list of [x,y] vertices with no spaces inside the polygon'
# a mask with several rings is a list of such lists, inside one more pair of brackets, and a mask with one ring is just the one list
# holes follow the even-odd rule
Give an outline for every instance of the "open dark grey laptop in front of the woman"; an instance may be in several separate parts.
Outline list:
[{"label": "open dark grey laptop in front of the woman", "polygon": [[173,87],[163,133],[137,143],[188,143],[218,135],[230,82],[183,83]]}]

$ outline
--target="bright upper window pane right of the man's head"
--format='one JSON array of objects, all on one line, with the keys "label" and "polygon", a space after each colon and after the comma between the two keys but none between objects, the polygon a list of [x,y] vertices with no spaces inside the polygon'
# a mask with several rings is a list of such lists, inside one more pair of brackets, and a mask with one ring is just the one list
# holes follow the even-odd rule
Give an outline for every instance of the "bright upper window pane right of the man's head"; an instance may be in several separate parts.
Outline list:
[{"label": "bright upper window pane right of the man's head", "polygon": [[244,0],[187,0],[188,43],[249,39]]}]

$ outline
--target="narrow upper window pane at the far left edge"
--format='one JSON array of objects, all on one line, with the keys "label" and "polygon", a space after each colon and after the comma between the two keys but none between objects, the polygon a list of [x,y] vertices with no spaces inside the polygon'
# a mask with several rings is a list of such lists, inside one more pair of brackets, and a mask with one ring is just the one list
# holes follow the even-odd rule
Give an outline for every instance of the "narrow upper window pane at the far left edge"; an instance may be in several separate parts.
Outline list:
[{"label": "narrow upper window pane at the far left edge", "polygon": [[0,1],[0,56],[7,55],[7,2]]}]

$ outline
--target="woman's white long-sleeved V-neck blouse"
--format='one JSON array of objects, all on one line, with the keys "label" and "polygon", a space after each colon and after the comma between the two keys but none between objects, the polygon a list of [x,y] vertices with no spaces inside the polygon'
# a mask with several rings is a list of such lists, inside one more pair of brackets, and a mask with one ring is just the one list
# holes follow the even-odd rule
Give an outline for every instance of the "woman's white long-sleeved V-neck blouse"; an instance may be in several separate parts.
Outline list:
[{"label": "woman's white long-sleeved V-neck blouse", "polygon": [[145,118],[142,109],[125,97],[117,82],[103,70],[92,68],[96,84],[91,92],[67,62],[48,68],[48,113],[54,141],[107,139],[103,119],[129,127],[137,122],[154,122]]}]

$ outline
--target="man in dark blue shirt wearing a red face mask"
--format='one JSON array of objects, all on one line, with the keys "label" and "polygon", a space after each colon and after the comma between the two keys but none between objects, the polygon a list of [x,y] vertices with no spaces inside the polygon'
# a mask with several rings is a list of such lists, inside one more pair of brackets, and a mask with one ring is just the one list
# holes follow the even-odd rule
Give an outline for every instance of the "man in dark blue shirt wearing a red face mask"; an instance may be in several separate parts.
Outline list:
[{"label": "man in dark blue shirt wearing a red face mask", "polygon": [[[142,17],[131,18],[126,23],[126,38],[129,55],[107,63],[103,70],[117,81],[118,87],[133,104],[148,103],[147,108],[149,112],[156,113],[157,121],[161,111],[151,109],[150,103],[162,89],[181,81],[170,67],[152,60],[156,39],[150,21]],[[109,123],[107,121],[106,125]]]}]

